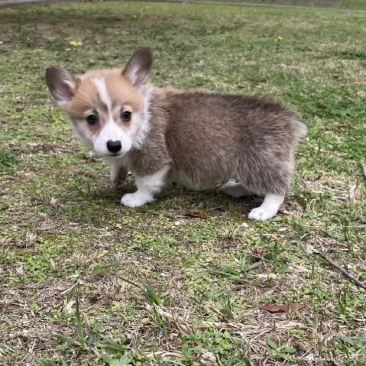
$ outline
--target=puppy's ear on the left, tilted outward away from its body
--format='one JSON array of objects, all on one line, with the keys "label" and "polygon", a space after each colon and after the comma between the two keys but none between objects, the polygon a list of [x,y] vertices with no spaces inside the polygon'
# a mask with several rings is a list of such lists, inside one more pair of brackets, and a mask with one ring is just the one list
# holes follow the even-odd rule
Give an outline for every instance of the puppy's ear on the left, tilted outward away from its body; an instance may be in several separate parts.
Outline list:
[{"label": "puppy's ear on the left, tilted outward away from its body", "polygon": [[66,107],[75,95],[80,79],[61,67],[46,69],[46,82],[59,107]]}]

